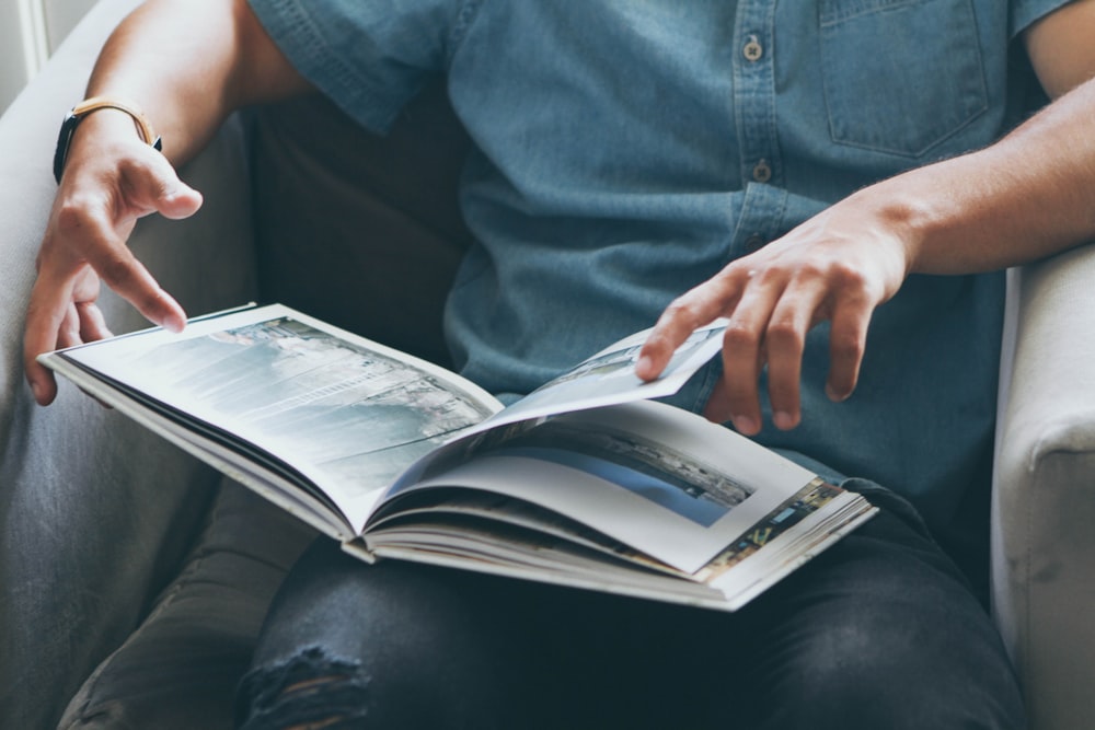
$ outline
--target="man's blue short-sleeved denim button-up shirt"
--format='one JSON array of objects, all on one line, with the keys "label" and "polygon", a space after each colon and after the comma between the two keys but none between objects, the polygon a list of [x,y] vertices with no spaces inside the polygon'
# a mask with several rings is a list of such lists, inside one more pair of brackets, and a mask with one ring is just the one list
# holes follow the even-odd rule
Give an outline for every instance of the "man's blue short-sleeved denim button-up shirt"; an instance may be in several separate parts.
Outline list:
[{"label": "man's blue short-sleeved denim button-up shirt", "polygon": [[[1037,99],[1015,38],[1064,1],[251,3],[370,129],[447,74],[477,241],[447,336],[463,374],[523,393],[856,188],[998,139]],[[1000,274],[910,277],[855,394],[825,396],[818,326],[802,426],[758,440],[950,523],[991,445],[1002,310]],[[678,403],[701,407],[714,374]]]}]

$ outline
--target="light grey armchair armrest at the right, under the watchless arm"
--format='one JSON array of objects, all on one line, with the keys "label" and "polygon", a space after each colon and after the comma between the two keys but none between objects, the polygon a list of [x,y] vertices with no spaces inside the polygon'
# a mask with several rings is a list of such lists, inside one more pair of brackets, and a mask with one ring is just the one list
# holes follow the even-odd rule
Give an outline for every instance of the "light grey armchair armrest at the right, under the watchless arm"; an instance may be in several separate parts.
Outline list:
[{"label": "light grey armchair armrest at the right, under the watchless arm", "polygon": [[1034,728],[1095,722],[1095,246],[1010,273],[993,599]]}]

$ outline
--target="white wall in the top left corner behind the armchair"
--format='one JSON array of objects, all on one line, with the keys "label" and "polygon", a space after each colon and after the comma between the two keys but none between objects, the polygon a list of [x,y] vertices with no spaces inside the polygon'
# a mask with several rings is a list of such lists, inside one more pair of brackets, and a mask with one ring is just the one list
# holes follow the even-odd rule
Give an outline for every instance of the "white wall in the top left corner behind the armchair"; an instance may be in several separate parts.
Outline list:
[{"label": "white wall in the top left corner behind the armchair", "polygon": [[0,0],[0,114],[93,4],[95,0]]}]

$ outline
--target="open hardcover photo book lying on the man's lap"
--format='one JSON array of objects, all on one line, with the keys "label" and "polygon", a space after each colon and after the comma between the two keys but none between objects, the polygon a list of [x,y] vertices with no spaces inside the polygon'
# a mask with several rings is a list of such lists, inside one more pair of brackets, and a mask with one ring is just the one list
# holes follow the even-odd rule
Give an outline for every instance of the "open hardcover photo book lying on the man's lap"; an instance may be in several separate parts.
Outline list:
[{"label": "open hardcover photo book lying on the man's lap", "polygon": [[866,520],[860,495],[652,401],[638,333],[504,408],[285,306],[42,356],[103,403],[372,561],[403,558],[733,611]]}]

